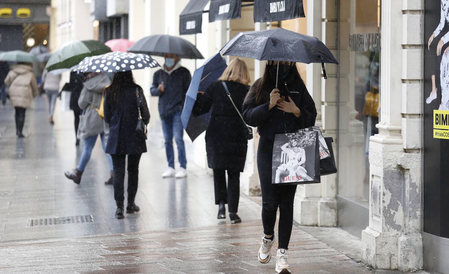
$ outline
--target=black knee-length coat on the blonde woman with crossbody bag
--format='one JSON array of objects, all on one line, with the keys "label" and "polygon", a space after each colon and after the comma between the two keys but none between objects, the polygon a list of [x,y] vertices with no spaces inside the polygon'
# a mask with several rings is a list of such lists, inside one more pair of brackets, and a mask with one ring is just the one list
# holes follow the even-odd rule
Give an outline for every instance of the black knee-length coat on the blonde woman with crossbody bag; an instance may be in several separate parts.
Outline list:
[{"label": "black knee-length coat on the blonde woman with crossbody bag", "polygon": [[[211,111],[206,130],[206,152],[209,168],[243,171],[247,157],[247,126],[243,123],[226,95],[221,81],[212,83],[204,95],[198,94],[194,115]],[[225,81],[229,93],[242,110],[242,103],[249,86]]]}]

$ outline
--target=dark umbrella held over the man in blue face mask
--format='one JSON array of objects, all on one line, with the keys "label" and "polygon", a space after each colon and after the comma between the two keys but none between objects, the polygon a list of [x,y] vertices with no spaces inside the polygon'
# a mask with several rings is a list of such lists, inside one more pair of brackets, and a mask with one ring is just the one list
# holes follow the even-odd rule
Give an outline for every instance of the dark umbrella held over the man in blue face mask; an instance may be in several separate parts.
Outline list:
[{"label": "dark umbrella held over the man in blue face mask", "polygon": [[128,52],[145,53],[149,55],[164,56],[174,53],[181,58],[203,59],[198,49],[189,41],[172,35],[150,35],[138,40]]}]

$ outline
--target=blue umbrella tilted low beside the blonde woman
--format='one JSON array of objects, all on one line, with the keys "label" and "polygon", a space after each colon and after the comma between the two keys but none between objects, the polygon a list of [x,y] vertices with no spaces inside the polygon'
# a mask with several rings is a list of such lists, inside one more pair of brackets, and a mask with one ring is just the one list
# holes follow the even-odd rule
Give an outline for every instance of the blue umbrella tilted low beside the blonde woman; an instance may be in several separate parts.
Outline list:
[{"label": "blue umbrella tilted low beside the blonde woman", "polygon": [[206,130],[211,119],[210,112],[200,116],[192,115],[198,91],[206,91],[210,84],[220,78],[226,67],[225,58],[221,57],[220,53],[217,53],[207,59],[204,65],[194,72],[181,114],[182,125],[192,141]]}]

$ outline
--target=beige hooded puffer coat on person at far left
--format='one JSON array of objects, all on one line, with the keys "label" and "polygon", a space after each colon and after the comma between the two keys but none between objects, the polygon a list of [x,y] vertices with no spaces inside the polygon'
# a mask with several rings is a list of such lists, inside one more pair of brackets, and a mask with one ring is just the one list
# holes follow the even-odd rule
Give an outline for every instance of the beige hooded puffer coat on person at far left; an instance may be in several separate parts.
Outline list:
[{"label": "beige hooded puffer coat on person at far left", "polygon": [[9,99],[13,106],[30,107],[33,97],[39,95],[36,78],[31,66],[11,66],[4,84],[9,86]]}]

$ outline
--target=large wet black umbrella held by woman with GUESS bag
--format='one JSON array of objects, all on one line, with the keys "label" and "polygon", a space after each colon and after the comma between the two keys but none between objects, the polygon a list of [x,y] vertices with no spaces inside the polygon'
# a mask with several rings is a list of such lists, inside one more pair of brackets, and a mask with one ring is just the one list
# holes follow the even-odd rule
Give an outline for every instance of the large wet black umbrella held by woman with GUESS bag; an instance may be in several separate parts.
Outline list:
[{"label": "large wet black umbrella held by woman with GUESS bag", "polygon": [[253,58],[257,60],[338,64],[334,55],[316,37],[276,28],[266,31],[246,31],[235,35],[220,50],[222,55]]}]

